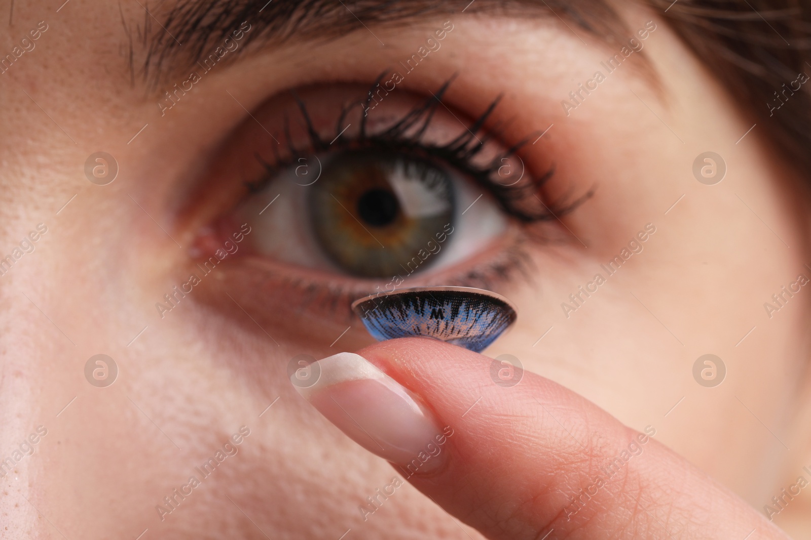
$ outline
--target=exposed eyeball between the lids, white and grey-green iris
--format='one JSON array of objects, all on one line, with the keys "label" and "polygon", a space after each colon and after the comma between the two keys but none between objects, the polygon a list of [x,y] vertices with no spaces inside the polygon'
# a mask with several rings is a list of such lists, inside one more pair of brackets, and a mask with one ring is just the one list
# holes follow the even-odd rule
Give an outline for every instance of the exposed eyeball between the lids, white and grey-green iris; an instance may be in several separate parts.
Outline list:
[{"label": "exposed eyeball between the lids, white and grey-green iris", "polygon": [[249,241],[256,254],[384,279],[470,257],[508,226],[469,179],[418,155],[368,148],[314,162],[322,165],[314,183],[302,185],[301,165],[291,166],[238,209],[238,219],[251,220],[255,229]]}]

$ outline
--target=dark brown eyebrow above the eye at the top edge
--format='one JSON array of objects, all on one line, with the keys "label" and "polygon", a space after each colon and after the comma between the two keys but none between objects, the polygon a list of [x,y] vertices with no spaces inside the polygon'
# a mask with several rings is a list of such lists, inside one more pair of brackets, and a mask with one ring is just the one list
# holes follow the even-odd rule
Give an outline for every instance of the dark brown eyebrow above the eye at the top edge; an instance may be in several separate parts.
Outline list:
[{"label": "dark brown eyebrow above the eye at the top edge", "polygon": [[[605,0],[176,0],[161,2],[152,10],[140,5],[144,23],[137,28],[139,44],[123,14],[122,23],[129,37],[132,83],[142,79],[151,89],[170,75],[195,69],[218,45],[233,40],[234,32],[245,22],[251,25],[251,32],[245,32],[230,61],[251,42],[268,46],[330,41],[364,28],[374,35],[373,28],[381,25],[405,26],[440,15],[557,17],[581,40],[570,23],[607,43],[620,43],[627,33]],[[144,58],[139,70],[135,68],[136,45],[144,49],[138,55]]]}]

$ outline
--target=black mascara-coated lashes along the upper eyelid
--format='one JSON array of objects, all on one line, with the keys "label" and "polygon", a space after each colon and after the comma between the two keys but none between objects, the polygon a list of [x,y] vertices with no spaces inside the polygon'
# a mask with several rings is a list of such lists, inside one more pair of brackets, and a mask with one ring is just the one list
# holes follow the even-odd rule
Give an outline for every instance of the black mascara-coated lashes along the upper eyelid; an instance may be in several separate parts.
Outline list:
[{"label": "black mascara-coated lashes along the upper eyelid", "polygon": [[[327,134],[323,134],[323,130],[319,130],[312,121],[307,102],[293,93],[298,117],[306,128],[307,146],[298,147],[294,142],[290,134],[290,120],[285,115],[284,137],[281,138],[283,147],[269,145],[273,154],[272,159],[266,160],[262,155],[257,156],[265,169],[265,174],[258,181],[247,182],[251,193],[264,189],[285,169],[297,168],[302,163],[311,162],[313,155],[325,152],[335,155],[343,151],[367,151],[373,154],[411,155],[453,168],[474,185],[485,189],[505,214],[520,223],[555,220],[585,200],[577,198],[570,202],[544,204],[534,197],[540,193],[543,185],[551,180],[554,170],[534,174],[526,170],[522,160],[517,156],[517,152],[532,140],[533,135],[530,134],[511,147],[500,151],[493,150],[505,126],[503,123],[496,123],[487,130],[484,126],[496,111],[500,97],[496,97],[469,125],[461,125],[457,136],[444,143],[431,142],[427,134],[430,133],[437,114],[444,110],[442,99],[453,79],[444,83],[431,97],[417,101],[410,110],[397,113],[399,117],[388,121],[389,125],[385,129],[370,129],[370,117],[367,113],[370,110],[372,90],[384,77],[385,74],[380,75],[364,99],[351,100],[349,104],[342,105],[334,129]],[[356,117],[358,129],[346,130],[347,119],[353,116]],[[349,122],[349,125],[353,123]]]}]

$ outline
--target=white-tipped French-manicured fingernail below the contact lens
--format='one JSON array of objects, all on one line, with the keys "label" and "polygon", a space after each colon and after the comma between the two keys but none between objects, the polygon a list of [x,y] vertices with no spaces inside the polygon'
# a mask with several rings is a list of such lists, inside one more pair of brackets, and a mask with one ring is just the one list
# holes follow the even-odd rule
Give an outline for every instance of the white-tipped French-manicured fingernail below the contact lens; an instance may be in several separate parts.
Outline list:
[{"label": "white-tipped French-manicured fingernail below the contact lens", "polygon": [[315,384],[290,381],[352,440],[409,474],[440,468],[447,457],[442,430],[414,394],[361,355],[341,352],[311,364]]}]

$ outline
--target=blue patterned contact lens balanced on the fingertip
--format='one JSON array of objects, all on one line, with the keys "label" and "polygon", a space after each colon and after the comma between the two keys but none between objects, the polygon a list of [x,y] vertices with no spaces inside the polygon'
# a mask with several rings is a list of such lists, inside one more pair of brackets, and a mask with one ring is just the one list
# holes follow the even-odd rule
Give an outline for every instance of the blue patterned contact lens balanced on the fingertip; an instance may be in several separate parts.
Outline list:
[{"label": "blue patterned contact lens balanced on the fingertip", "polygon": [[423,336],[483,351],[515,321],[503,296],[472,287],[421,287],[384,292],[352,304],[369,334],[384,339]]}]

